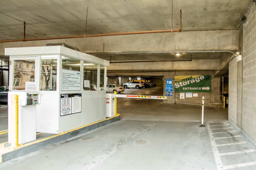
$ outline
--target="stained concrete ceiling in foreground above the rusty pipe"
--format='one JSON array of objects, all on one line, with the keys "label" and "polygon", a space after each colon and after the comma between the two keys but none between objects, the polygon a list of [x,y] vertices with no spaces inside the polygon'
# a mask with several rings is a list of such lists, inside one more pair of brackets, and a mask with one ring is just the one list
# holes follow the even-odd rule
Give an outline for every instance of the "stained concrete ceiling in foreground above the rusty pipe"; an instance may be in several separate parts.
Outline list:
[{"label": "stained concrete ceiling in foreground above the rusty pipe", "polygon": [[[238,29],[252,0],[173,0],[173,27]],[[1,0],[0,40],[172,28],[172,0]]]}]

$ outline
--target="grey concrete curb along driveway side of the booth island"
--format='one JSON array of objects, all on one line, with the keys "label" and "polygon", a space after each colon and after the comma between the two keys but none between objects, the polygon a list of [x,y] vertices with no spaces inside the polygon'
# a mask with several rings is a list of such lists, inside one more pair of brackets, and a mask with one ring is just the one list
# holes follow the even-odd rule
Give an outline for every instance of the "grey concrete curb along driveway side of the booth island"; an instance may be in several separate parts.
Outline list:
[{"label": "grey concrete curb along driveway side of the booth island", "polygon": [[71,131],[69,133],[65,133],[63,135],[53,137],[51,139],[47,139],[47,140],[42,141],[42,142],[38,142],[38,143],[29,145],[29,146],[26,146],[26,147],[22,147],[22,148],[17,149],[17,150],[13,150],[9,153],[4,153],[2,155],[2,162],[9,161],[11,159],[15,159],[15,158],[20,157],[20,156],[24,156],[27,153],[31,153],[31,152],[43,149],[44,147],[50,146],[52,144],[57,144],[59,142],[68,140],[72,137],[81,135],[83,133],[87,133],[91,130],[94,130],[96,128],[108,125],[110,123],[113,123],[113,122],[116,122],[116,121],[119,121],[119,120],[120,120],[120,115],[116,116],[116,117],[113,117],[112,119],[107,119],[105,121],[102,121],[102,122],[99,122],[99,123],[96,123],[96,124],[93,124],[93,125],[89,125],[89,126],[86,126],[86,127],[82,127],[81,129],[74,130],[74,131]]}]

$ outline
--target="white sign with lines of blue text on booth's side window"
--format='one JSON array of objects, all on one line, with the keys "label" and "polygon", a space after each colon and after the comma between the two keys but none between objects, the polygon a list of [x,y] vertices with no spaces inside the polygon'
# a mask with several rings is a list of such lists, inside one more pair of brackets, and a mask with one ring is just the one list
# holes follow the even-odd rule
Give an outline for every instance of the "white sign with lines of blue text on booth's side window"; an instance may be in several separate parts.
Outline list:
[{"label": "white sign with lines of blue text on booth's side window", "polygon": [[61,90],[62,91],[80,91],[81,72],[61,69]]}]

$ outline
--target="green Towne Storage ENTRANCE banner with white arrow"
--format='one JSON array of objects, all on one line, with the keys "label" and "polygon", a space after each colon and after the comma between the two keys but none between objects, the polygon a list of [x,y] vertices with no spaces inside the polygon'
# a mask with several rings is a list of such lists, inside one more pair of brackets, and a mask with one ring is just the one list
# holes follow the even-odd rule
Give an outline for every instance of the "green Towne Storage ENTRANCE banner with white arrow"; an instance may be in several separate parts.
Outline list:
[{"label": "green Towne Storage ENTRANCE banner with white arrow", "polygon": [[211,92],[210,75],[175,76],[175,92]]}]

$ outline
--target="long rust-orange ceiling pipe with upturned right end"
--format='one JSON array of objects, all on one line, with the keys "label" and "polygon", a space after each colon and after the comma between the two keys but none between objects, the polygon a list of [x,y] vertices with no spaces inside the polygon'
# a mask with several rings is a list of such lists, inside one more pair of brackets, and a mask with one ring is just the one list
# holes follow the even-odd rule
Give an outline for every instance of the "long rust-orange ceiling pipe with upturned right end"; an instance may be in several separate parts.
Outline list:
[{"label": "long rust-orange ceiling pipe with upturned right end", "polygon": [[134,31],[134,32],[117,32],[117,33],[106,33],[106,34],[89,34],[89,35],[73,35],[73,36],[62,36],[62,37],[45,37],[45,38],[23,38],[16,40],[0,40],[0,42],[17,42],[17,41],[36,41],[36,40],[56,40],[66,38],[84,38],[84,37],[105,37],[114,35],[129,35],[129,34],[152,34],[152,33],[164,33],[164,32],[181,32],[181,10],[180,10],[180,28],[179,29],[167,29],[167,30],[154,30],[154,31]]}]

